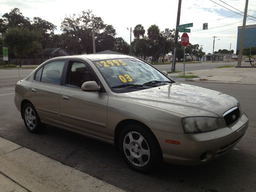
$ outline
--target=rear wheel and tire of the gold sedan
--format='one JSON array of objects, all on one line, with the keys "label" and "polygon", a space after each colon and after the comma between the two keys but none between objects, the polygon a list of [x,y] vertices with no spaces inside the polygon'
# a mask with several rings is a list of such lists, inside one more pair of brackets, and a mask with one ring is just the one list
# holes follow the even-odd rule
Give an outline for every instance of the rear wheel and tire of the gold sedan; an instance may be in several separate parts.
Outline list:
[{"label": "rear wheel and tire of the gold sedan", "polygon": [[23,120],[26,128],[31,133],[40,133],[44,129],[44,124],[41,123],[38,113],[34,106],[26,103],[23,107]]}]

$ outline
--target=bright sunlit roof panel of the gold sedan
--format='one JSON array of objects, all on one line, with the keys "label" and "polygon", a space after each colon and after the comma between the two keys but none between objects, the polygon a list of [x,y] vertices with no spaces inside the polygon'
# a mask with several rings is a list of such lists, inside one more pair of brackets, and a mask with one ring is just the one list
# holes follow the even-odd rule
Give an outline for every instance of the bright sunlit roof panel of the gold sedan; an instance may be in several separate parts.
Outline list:
[{"label": "bright sunlit roof panel of the gold sedan", "polygon": [[123,58],[135,58],[129,55],[120,55],[120,54],[84,54],[84,55],[71,55],[71,56],[64,56],[60,58],[87,58],[91,61],[98,61],[98,60],[106,60],[106,59],[123,59]]}]

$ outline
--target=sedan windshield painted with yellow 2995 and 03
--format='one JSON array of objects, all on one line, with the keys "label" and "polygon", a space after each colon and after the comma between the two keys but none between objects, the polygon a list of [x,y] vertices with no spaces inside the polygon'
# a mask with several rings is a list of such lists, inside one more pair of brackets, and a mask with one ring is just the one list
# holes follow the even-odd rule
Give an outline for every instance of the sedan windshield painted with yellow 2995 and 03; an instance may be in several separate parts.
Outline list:
[{"label": "sedan windshield painted with yellow 2995 and 03", "polygon": [[94,64],[114,92],[132,92],[174,82],[137,58],[99,60]]}]

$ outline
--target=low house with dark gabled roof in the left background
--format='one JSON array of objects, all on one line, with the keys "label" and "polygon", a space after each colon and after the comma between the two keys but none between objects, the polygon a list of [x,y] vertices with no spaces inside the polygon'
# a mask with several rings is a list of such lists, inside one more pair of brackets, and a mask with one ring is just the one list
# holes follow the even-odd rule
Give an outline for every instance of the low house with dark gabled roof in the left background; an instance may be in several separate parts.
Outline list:
[{"label": "low house with dark gabled roof in the left background", "polygon": [[63,48],[46,48],[40,52],[37,56],[38,58],[53,58],[60,56],[69,56],[70,54],[66,52]]}]

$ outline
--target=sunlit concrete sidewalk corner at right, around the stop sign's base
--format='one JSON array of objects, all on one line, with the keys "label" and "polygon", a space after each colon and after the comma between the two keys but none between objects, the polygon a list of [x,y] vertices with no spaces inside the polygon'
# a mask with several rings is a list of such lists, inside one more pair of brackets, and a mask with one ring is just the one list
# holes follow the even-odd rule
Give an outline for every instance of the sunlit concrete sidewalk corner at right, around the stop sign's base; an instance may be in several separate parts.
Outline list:
[{"label": "sunlit concrete sidewalk corner at right, around the stop sign's base", "polygon": [[185,72],[185,75],[196,75],[198,78],[176,78],[176,76],[182,74],[168,74],[168,76],[174,81],[200,81],[200,82],[215,82],[215,83],[232,83],[232,84],[252,84],[256,85],[256,67],[245,68],[215,68],[207,70],[196,70]]}]

